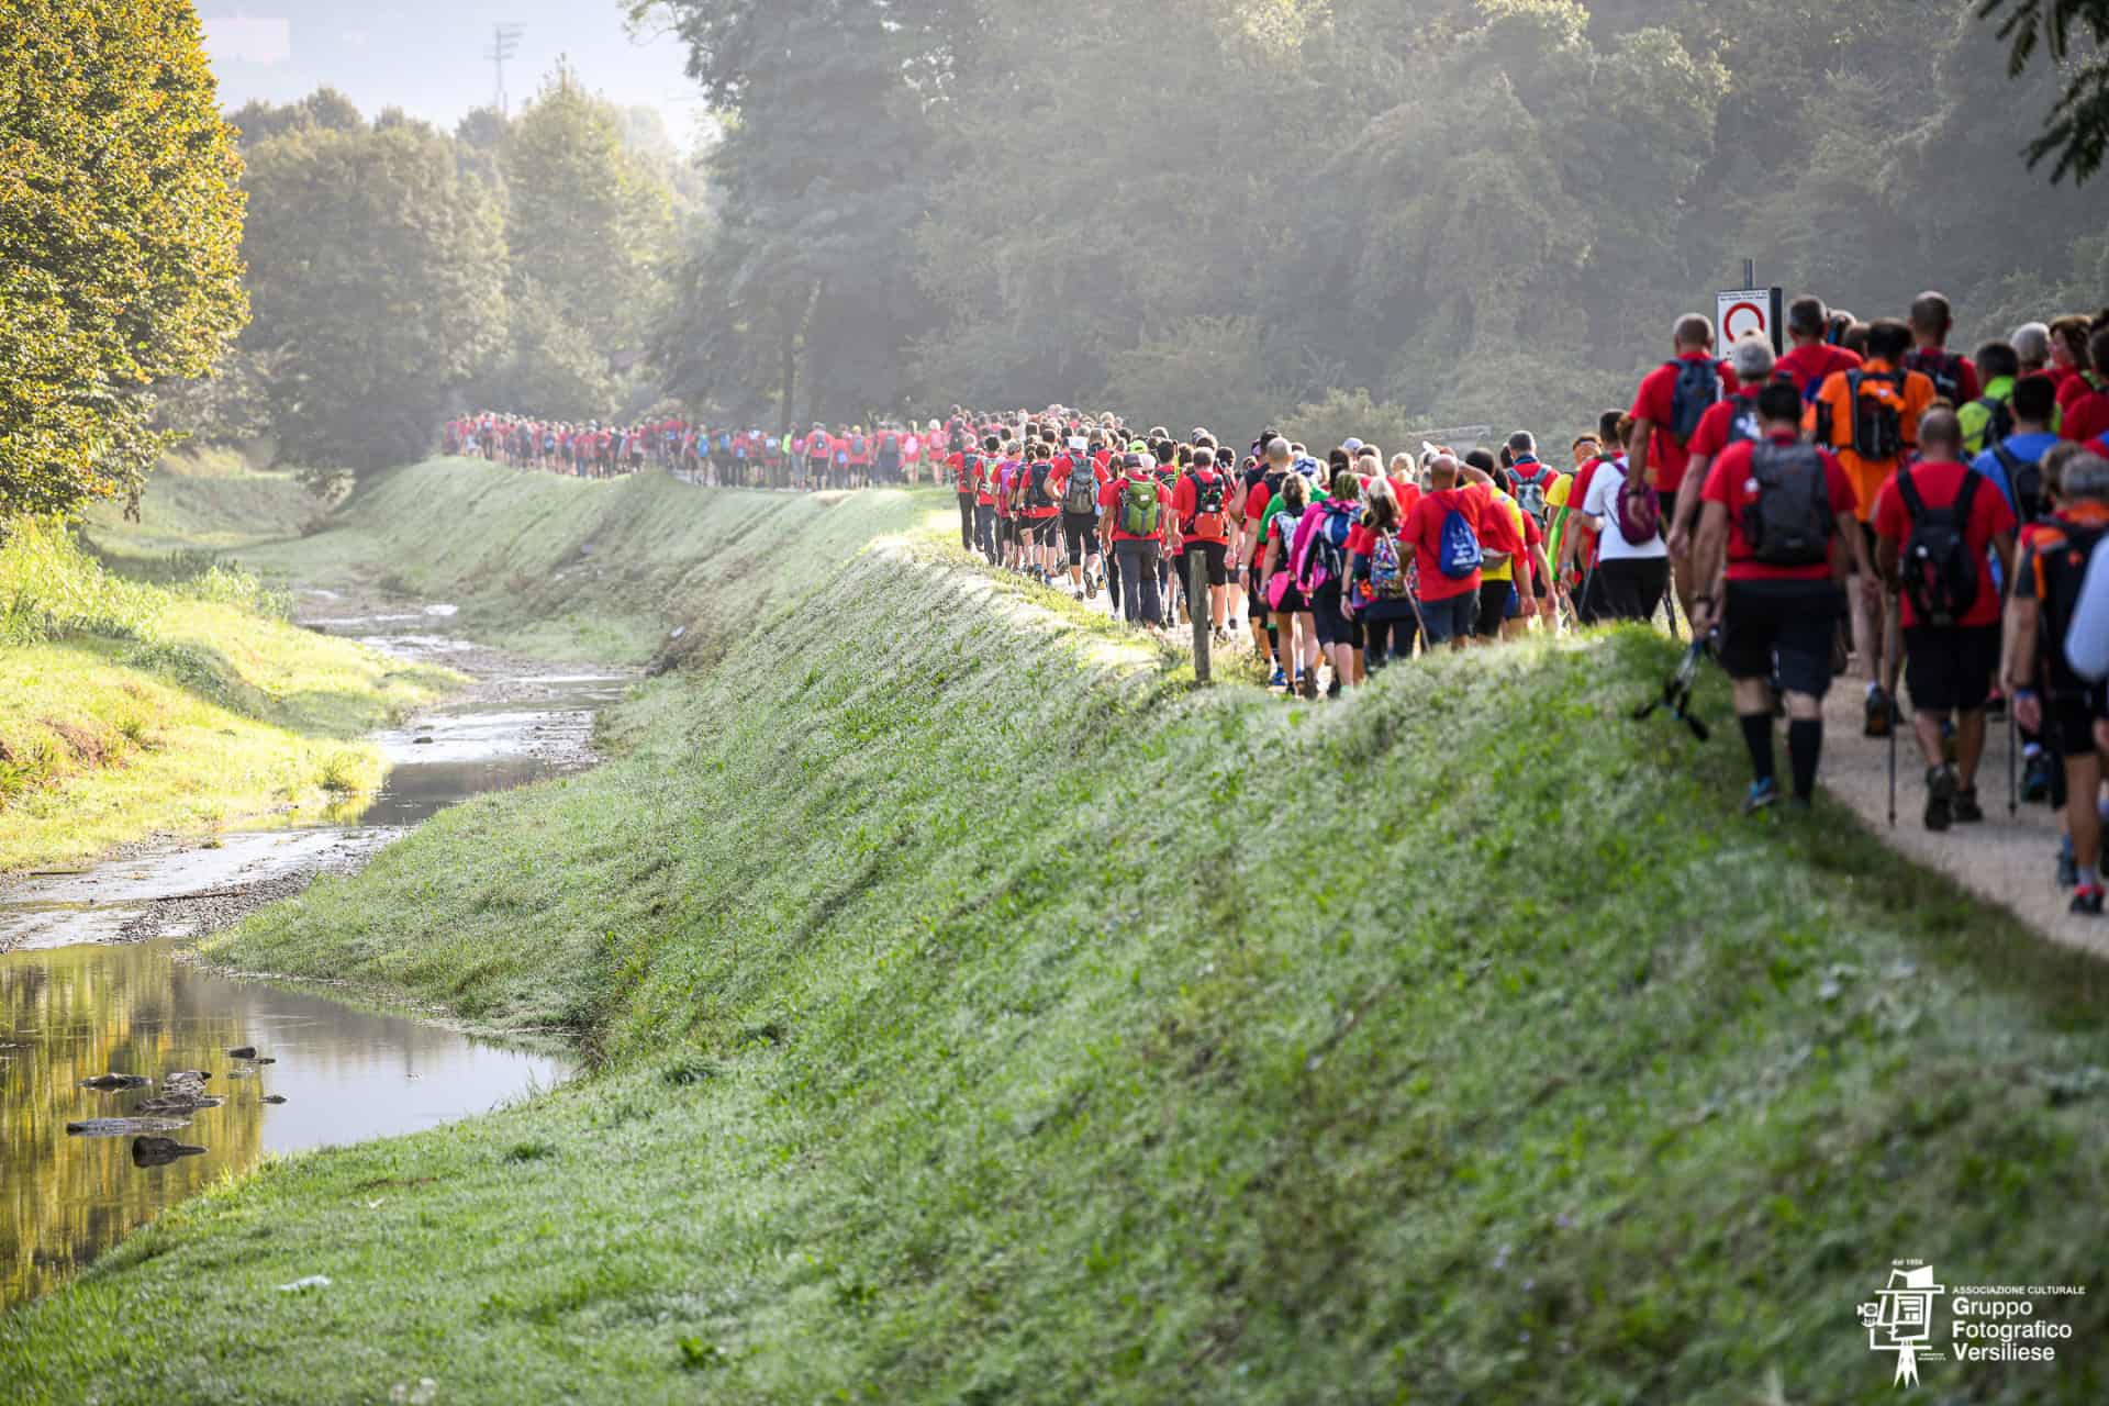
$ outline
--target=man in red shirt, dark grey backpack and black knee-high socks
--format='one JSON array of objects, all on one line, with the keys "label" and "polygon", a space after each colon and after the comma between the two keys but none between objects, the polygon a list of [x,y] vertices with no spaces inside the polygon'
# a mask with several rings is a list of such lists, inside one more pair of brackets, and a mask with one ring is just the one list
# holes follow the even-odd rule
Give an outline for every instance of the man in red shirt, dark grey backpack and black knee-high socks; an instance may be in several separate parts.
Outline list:
[{"label": "man in red shirt, dark grey backpack and black knee-high socks", "polygon": [[1793,382],[1757,396],[1761,438],[1729,445],[1700,485],[1704,504],[1691,563],[1702,582],[1691,601],[1698,639],[1719,624],[1721,668],[1734,681],[1736,717],[1750,753],[1744,814],[1780,799],[1774,776],[1774,677],[1786,706],[1793,799],[1816,797],[1824,748],[1831,641],[1845,613],[1845,561],[1871,582],[1852,479],[1826,449],[1801,441],[1801,392]]}]

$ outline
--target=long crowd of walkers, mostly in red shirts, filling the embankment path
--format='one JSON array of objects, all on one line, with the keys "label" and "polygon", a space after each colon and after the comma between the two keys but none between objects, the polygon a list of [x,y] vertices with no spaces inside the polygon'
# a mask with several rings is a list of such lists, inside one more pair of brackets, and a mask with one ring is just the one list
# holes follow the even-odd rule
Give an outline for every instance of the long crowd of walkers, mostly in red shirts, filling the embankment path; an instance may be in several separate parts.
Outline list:
[{"label": "long crowd of walkers, mostly in red shirts, filling the embankment path", "polygon": [[1974,356],[1951,329],[1938,293],[1873,320],[1803,297],[1784,354],[1753,335],[1721,356],[1713,323],[1683,316],[1632,403],[1561,464],[1527,430],[1390,455],[1263,430],[1240,453],[1202,428],[1133,432],[1065,407],[791,434],[479,415],[447,441],[557,472],[658,464],[744,487],[928,472],[955,495],[964,550],[1078,599],[1107,592],[1147,630],[1200,616],[1303,698],[1432,649],[1656,620],[1729,675],[1753,814],[1810,805],[1824,698],[1858,662],[1866,736],[1896,746],[1909,696],[1930,831],[1985,820],[1987,719],[2014,725],[2014,803],[2056,807],[2058,881],[2075,913],[2101,915],[2109,312],[2029,323]]}]

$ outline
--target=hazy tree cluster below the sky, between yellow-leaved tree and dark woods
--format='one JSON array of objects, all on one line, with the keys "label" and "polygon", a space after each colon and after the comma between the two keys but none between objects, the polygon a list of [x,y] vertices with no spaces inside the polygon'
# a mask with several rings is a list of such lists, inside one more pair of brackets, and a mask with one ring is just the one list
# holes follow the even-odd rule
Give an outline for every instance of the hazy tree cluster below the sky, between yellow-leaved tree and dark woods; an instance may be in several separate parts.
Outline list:
[{"label": "hazy tree cluster below the sky, between yellow-leaved tree and dark woods", "polygon": [[656,122],[561,70],[519,118],[453,135],[329,89],[234,122],[257,316],[228,377],[173,407],[186,428],[327,476],[415,460],[470,401],[572,419],[658,401],[643,339],[696,209]]}]

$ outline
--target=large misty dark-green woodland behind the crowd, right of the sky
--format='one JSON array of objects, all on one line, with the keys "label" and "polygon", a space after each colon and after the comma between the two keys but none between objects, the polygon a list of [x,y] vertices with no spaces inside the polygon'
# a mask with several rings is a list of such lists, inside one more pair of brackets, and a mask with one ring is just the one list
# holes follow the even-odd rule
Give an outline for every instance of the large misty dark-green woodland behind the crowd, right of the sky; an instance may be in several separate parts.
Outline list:
[{"label": "large misty dark-green woodland behind the crowd, right of the sky", "polygon": [[742,417],[1103,398],[1242,436],[1367,388],[1552,432],[1744,257],[1864,316],[1938,287],[1966,346],[2109,299],[2096,202],[2023,154],[2058,74],[2010,82],[1970,4],[633,8],[736,116],[664,350]]}]

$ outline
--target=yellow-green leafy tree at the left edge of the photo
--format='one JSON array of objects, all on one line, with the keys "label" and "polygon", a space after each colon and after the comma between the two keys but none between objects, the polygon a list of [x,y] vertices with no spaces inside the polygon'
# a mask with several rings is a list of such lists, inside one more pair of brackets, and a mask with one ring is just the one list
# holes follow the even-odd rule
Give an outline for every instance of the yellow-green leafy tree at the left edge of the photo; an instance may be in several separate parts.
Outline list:
[{"label": "yellow-green leafy tree at the left edge of the photo", "polygon": [[0,38],[0,519],[137,495],[158,379],[243,329],[243,198],[188,0],[11,0]]}]

